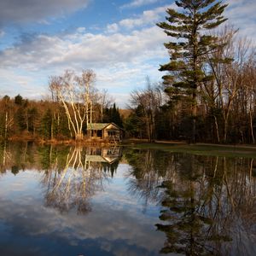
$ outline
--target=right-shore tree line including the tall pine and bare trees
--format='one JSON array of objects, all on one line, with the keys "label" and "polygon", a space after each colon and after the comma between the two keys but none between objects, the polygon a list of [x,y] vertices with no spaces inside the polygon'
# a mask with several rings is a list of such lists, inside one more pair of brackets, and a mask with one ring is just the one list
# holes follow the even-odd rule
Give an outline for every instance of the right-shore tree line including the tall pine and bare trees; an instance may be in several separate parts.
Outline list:
[{"label": "right-shore tree line including the tall pine and bare trees", "polygon": [[163,82],[131,92],[126,120],[133,137],[191,143],[255,143],[256,59],[253,44],[224,23],[226,4],[176,1],[160,26],[170,61]]}]

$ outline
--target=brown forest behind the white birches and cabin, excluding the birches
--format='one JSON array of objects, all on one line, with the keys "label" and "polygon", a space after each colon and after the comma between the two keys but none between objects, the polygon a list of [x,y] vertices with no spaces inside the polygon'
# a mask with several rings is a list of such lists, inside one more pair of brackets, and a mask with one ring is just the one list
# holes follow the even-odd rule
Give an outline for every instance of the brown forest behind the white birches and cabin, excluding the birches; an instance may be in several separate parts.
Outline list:
[{"label": "brown forest behind the white birches and cabin, excluding the birches", "polygon": [[[70,124],[75,122],[76,113],[70,113],[69,120],[65,108],[59,102],[32,101],[17,95],[14,99],[3,96],[0,104],[0,137],[2,139],[56,142],[76,138],[76,130],[73,130]],[[70,103],[67,103],[67,106],[68,111],[73,111]],[[105,105],[105,108],[102,108],[99,102],[96,103],[90,118],[94,121],[113,122],[122,126],[119,108],[116,108],[114,103],[109,107],[108,104]],[[86,134],[86,123],[81,121],[80,124],[82,124],[82,133]]]}]

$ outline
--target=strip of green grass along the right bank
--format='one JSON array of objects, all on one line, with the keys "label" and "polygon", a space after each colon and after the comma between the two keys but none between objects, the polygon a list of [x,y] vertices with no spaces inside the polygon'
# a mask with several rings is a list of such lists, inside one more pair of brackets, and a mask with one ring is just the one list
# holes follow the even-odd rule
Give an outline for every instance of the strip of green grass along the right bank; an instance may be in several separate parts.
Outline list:
[{"label": "strip of green grass along the right bank", "polygon": [[256,147],[247,145],[216,145],[216,144],[186,144],[186,143],[126,143],[131,148],[150,148],[172,153],[187,153],[198,155],[247,157],[256,158]]}]

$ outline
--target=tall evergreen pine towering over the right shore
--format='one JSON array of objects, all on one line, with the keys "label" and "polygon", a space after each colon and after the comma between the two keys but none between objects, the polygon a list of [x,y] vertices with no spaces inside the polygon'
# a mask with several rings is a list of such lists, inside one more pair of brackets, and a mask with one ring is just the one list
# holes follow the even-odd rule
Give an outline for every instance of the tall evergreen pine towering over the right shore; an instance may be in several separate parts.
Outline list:
[{"label": "tall evergreen pine towering over the right shore", "polygon": [[167,9],[166,22],[157,24],[173,41],[166,43],[170,62],[160,66],[160,71],[168,71],[163,76],[166,93],[172,100],[181,98],[191,102],[192,135],[195,143],[197,97],[200,85],[213,79],[204,72],[207,55],[221,45],[218,38],[207,33],[225,20],[222,16],[226,4],[215,0],[179,0],[175,3],[183,12]]}]

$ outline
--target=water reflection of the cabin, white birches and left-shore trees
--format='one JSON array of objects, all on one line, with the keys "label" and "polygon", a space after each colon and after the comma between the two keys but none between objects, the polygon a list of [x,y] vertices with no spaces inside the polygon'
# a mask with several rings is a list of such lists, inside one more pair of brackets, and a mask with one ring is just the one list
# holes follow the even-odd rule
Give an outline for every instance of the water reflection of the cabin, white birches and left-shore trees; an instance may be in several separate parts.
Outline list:
[{"label": "water reflection of the cabin, white birches and left-shore trees", "polygon": [[37,148],[33,143],[16,143],[15,146],[4,143],[0,150],[2,173],[7,169],[15,175],[32,168],[44,171],[41,180],[45,190],[45,206],[54,207],[60,212],[76,209],[79,214],[90,212],[91,196],[102,191],[103,183],[113,177],[120,157],[119,147],[48,145]]}]

